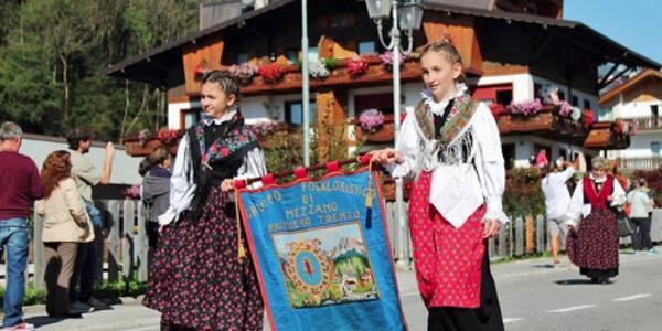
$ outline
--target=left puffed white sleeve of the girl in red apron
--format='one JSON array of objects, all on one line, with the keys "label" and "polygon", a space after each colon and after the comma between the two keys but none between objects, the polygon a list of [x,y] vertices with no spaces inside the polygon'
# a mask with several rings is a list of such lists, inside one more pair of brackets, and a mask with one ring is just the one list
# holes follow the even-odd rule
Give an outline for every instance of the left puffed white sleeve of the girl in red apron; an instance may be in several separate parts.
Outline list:
[{"label": "left puffed white sleeve of the girl in red apron", "polygon": [[405,117],[399,131],[399,141],[395,149],[403,153],[405,162],[402,164],[387,164],[386,170],[394,178],[410,177],[416,168],[416,160],[420,152],[419,136],[416,131],[416,118],[410,111]]}]

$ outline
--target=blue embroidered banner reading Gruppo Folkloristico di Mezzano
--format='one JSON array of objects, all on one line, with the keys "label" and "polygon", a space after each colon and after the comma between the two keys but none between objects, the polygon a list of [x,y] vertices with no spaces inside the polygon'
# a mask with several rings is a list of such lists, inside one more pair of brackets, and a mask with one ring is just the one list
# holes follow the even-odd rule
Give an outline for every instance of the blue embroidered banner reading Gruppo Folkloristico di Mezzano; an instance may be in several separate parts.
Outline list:
[{"label": "blue embroidered banner reading Gruppo Folkloristico di Mezzano", "polygon": [[273,330],[406,329],[366,170],[243,190],[239,205]]}]

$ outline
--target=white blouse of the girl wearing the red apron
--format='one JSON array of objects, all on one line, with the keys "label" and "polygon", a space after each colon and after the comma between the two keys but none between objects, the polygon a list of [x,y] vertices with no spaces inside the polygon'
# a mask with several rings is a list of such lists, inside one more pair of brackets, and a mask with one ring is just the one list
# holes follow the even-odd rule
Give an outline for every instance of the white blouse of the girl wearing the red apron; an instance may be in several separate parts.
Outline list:
[{"label": "white blouse of the girl wearing the red apron", "polygon": [[[462,95],[467,89],[463,84],[458,84],[457,88],[456,97]],[[440,114],[439,111],[442,111],[449,103],[449,99],[440,103],[434,102],[428,92],[424,92],[424,98],[435,114]],[[465,156],[467,158],[460,156],[460,158],[456,158],[456,162],[439,163],[434,169],[424,167],[423,170],[433,171],[430,203],[456,228],[462,226],[483,203],[488,210],[483,222],[498,220],[501,223],[508,223],[510,220],[503,213],[501,201],[505,188],[501,138],[496,121],[485,104],[478,105],[469,124],[450,141],[449,146],[458,140],[467,139],[467,137],[462,137],[467,135],[471,135],[469,140],[473,141],[472,150]],[[405,162],[387,167],[391,174],[395,178],[418,175],[421,170],[420,160],[426,152],[421,146],[425,146],[426,141],[434,143],[423,135],[416,116],[408,114],[403,121],[401,138],[396,146],[396,149],[405,157]],[[459,152],[462,153],[462,148],[455,150],[456,152],[460,150]],[[467,160],[467,162],[457,162],[458,160]]]}]

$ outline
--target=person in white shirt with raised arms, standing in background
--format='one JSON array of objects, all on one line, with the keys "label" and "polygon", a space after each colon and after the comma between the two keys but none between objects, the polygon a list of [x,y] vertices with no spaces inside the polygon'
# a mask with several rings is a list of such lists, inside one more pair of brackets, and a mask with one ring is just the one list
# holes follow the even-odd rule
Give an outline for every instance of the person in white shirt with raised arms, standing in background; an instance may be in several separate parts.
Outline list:
[{"label": "person in white shirt with raised arms, standing in background", "polygon": [[[545,207],[547,210],[547,228],[549,231],[549,246],[552,248],[552,257],[554,258],[554,267],[558,268],[560,261],[558,259],[558,235],[560,232],[565,235],[566,226],[563,224],[563,215],[570,205],[570,192],[566,186],[566,182],[573,178],[577,169],[578,158],[575,158],[574,163],[557,160],[549,167],[549,172],[541,181],[543,194],[545,195]],[[563,167],[566,169],[562,171]]]}]

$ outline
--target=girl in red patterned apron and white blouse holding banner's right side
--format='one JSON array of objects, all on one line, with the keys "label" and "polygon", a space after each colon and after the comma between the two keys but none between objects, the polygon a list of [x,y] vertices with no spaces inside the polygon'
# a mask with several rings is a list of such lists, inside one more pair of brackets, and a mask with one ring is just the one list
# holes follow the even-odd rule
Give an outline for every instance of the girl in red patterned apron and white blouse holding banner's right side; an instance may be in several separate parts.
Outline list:
[{"label": "girl in red patterned apron and white blouse holding banner's right side", "polygon": [[449,42],[426,46],[420,65],[423,100],[396,149],[372,152],[373,161],[414,181],[409,227],[428,330],[503,330],[485,249],[509,222],[499,129],[460,83],[462,60]]}]

